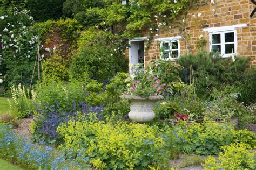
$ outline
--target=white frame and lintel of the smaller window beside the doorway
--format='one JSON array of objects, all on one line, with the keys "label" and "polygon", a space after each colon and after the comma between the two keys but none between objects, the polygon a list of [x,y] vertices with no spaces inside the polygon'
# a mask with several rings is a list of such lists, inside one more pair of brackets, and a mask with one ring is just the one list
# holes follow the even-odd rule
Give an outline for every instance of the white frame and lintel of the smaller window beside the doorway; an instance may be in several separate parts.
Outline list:
[{"label": "white frame and lintel of the smaller window beside the doorway", "polygon": [[[168,38],[158,38],[156,39],[156,41],[160,41],[160,48],[163,47],[163,43],[168,43],[169,46],[169,57],[167,59],[162,59],[161,60],[171,60],[171,61],[175,61],[177,59],[180,58],[180,41],[179,39],[181,39],[181,36],[177,36],[177,37],[168,37]],[[172,46],[170,45],[170,43],[172,42],[177,42],[178,43],[178,49],[172,49]],[[172,58],[171,57],[171,51],[178,51],[178,58]]]}]

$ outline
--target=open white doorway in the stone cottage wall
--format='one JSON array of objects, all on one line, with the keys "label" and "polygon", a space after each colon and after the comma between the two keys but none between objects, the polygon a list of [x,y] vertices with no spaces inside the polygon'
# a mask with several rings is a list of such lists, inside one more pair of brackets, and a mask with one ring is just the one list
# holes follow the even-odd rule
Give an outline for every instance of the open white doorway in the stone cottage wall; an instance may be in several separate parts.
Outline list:
[{"label": "open white doorway in the stone cottage wall", "polygon": [[[130,41],[129,63],[132,65],[142,63],[144,67],[144,40]],[[131,67],[129,67],[129,70],[130,74],[134,72]]]}]

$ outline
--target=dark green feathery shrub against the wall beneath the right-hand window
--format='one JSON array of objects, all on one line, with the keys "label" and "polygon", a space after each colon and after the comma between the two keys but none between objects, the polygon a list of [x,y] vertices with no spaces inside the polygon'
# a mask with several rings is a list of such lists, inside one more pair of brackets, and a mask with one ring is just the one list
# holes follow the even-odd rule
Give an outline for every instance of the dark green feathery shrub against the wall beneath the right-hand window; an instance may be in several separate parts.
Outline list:
[{"label": "dark green feathery shrub against the wall beneath the right-hand window", "polygon": [[[250,58],[237,57],[233,62],[231,58],[221,58],[218,54],[200,52],[199,54],[184,55],[178,63],[184,67],[180,77],[186,83],[190,82],[190,66],[193,66],[194,83],[199,97],[207,98],[212,87],[221,89],[226,84],[239,86],[237,93],[239,99],[245,103],[254,101],[255,95],[255,69],[249,69]],[[248,84],[249,86],[244,86]]]}]

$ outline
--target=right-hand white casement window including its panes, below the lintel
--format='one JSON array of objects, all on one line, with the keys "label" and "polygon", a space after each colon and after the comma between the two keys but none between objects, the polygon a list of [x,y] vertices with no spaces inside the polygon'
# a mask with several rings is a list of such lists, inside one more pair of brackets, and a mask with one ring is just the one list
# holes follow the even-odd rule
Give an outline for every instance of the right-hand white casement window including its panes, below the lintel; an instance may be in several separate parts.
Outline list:
[{"label": "right-hand white casement window including its panes, below the lintel", "polygon": [[210,51],[223,57],[237,54],[237,30],[210,33]]}]

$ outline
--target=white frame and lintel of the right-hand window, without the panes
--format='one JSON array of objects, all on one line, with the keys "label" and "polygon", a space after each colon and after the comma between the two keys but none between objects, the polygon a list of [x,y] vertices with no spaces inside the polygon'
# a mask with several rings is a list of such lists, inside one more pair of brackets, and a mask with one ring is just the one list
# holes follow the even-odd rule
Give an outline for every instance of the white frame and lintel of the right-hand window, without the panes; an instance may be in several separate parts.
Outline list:
[{"label": "white frame and lintel of the right-hand window, without the panes", "polygon": [[[209,45],[210,51],[212,51],[212,35],[213,34],[220,34],[220,46],[221,46],[221,55],[224,58],[230,57],[232,55],[237,55],[237,29],[247,27],[247,24],[237,24],[231,26],[222,26],[222,27],[210,27],[203,29],[203,31],[207,31],[209,33]],[[234,32],[234,42],[225,42],[225,33]],[[225,44],[234,44],[234,53],[233,54],[226,54],[225,53]],[[214,44],[215,45],[215,44]],[[216,44],[217,45],[217,44]]]}]

